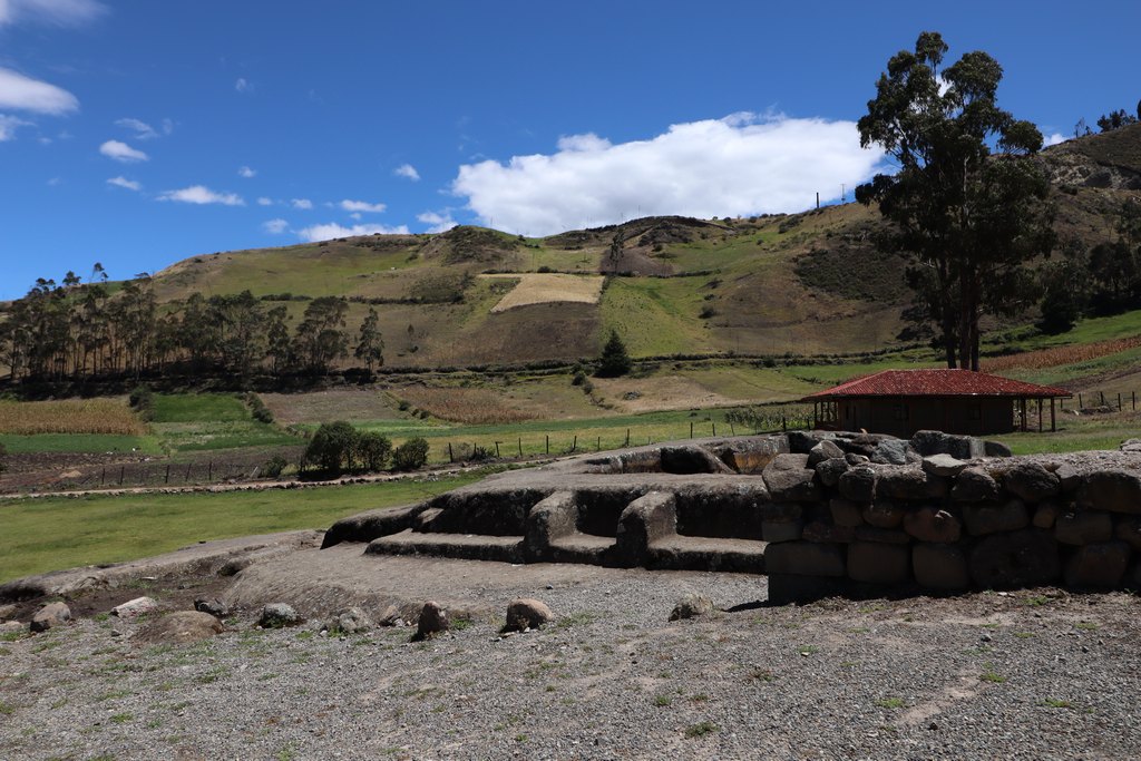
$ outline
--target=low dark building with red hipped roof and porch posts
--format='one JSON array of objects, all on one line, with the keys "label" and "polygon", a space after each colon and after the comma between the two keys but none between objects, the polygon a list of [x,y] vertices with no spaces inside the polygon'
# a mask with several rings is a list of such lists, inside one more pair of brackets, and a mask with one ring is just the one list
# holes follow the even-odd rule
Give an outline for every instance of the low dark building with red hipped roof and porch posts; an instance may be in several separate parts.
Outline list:
[{"label": "low dark building with red hipped roof and porch posts", "polygon": [[1037,402],[1037,429],[1050,400],[1073,396],[1063,388],[1037,386],[971,370],[884,370],[806,396],[817,428],[866,430],[911,437],[919,430],[947,434],[1009,434],[1028,430],[1030,402]]}]

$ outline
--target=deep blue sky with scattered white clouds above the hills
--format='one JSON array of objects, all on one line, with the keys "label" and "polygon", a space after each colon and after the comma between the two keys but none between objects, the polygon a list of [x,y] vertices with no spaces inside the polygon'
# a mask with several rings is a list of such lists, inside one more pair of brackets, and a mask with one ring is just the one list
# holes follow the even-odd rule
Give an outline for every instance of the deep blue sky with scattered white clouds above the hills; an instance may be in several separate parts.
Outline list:
[{"label": "deep blue sky with scattered white clouds above the hills", "polygon": [[1141,3],[0,0],[0,298],[200,253],[796,211],[922,30],[1045,135],[1136,107]]}]

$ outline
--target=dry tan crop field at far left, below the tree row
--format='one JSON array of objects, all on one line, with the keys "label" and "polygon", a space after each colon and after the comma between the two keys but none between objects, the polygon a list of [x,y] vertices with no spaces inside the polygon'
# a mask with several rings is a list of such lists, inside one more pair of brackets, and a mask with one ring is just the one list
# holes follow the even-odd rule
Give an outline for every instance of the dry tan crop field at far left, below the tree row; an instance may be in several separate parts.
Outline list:
[{"label": "dry tan crop field at far left, below the tree row", "polygon": [[0,402],[0,434],[141,436],[146,426],[122,399]]}]

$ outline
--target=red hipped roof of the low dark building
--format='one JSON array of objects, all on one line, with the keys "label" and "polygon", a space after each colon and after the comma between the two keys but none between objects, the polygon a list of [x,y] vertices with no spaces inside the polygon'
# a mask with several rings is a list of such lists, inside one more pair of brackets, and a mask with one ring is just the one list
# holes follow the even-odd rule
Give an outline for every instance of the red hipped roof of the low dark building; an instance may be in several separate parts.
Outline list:
[{"label": "red hipped roof of the low dark building", "polygon": [[1049,398],[1073,396],[1063,388],[1037,386],[971,370],[884,370],[806,396],[819,402],[857,396],[1004,396]]}]

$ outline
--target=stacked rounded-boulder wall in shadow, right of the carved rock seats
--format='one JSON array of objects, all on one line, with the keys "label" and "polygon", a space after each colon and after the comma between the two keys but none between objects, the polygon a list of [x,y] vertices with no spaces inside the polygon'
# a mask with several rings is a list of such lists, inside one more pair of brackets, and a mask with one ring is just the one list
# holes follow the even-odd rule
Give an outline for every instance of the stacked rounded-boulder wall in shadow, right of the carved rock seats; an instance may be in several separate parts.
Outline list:
[{"label": "stacked rounded-boulder wall in shadow, right of the carved rock seats", "polygon": [[[913,447],[938,440],[916,438]],[[934,453],[896,465],[845,451],[850,440],[800,440],[764,469],[770,500],[795,505],[766,532],[771,597],[884,586],[1141,588],[1136,454]]]}]

